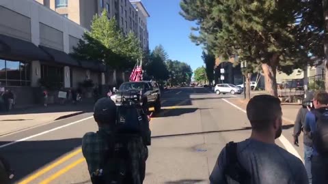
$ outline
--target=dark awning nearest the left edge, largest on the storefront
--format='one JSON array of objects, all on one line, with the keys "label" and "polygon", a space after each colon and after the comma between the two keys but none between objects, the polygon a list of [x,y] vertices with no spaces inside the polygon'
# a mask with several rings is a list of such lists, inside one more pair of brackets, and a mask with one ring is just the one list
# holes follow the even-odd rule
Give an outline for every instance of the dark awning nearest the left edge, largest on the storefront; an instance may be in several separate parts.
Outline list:
[{"label": "dark awning nearest the left edge, largest on the storefront", "polygon": [[49,55],[25,40],[0,34],[0,57],[19,61],[49,60]]}]

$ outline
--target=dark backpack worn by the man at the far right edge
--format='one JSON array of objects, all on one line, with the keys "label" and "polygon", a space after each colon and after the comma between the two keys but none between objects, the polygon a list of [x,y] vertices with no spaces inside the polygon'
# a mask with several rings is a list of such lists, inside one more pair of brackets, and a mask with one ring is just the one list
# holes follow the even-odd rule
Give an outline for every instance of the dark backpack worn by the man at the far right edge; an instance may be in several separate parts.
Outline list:
[{"label": "dark backpack worn by the man at the far right edge", "polygon": [[328,156],[328,108],[312,110],[316,116],[316,131],[312,132],[314,147],[320,155]]}]

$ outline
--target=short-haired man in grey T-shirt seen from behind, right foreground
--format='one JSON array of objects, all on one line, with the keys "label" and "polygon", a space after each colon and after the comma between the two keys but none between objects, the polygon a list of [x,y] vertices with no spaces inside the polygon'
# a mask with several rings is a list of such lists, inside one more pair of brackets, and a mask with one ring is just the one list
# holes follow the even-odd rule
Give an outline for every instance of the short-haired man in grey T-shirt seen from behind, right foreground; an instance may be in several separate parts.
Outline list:
[{"label": "short-haired man in grey T-shirt seen from behind, right foreground", "polygon": [[282,134],[282,108],[277,97],[257,95],[247,104],[251,136],[226,144],[210,174],[210,183],[305,184],[301,160],[275,144]]}]

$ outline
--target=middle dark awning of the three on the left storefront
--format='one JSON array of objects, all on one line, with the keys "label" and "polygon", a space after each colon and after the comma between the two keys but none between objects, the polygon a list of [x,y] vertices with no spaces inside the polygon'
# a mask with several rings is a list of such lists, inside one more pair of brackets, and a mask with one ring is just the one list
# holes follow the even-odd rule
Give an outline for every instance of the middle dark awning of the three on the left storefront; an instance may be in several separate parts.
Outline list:
[{"label": "middle dark awning of the three on the left storefront", "polygon": [[69,65],[69,66],[80,66],[79,61],[72,59],[70,55],[66,54],[66,52],[63,52],[61,50],[56,50],[53,48],[49,48],[46,46],[39,46],[44,52],[48,53],[52,59],[48,59],[45,61],[55,61],[56,63],[61,63],[64,65]]}]

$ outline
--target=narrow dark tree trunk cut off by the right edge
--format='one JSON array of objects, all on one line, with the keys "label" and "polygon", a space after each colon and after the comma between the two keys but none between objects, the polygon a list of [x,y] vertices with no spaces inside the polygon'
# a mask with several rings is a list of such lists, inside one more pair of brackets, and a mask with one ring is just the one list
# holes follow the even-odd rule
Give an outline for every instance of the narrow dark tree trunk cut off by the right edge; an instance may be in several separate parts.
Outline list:
[{"label": "narrow dark tree trunk cut off by the right edge", "polygon": [[323,40],[323,47],[325,50],[325,58],[326,58],[326,65],[325,65],[325,90],[328,91],[328,37],[327,37],[327,33],[328,33],[328,1],[327,0],[323,0],[323,18],[325,20],[325,38]]}]

